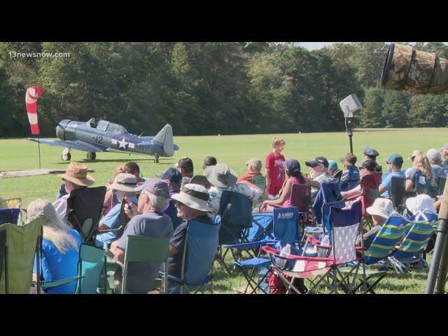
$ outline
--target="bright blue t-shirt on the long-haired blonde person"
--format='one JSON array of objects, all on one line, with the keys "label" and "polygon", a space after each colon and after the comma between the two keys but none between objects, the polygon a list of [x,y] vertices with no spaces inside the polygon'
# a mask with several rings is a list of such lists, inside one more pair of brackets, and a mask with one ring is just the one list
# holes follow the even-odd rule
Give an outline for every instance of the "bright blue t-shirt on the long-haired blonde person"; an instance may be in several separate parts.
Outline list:
[{"label": "bright blue t-shirt on the long-haired blonde person", "polygon": [[[79,246],[81,236],[79,232],[71,229],[71,234],[76,239],[76,250],[71,248],[65,254],[59,252],[55,244],[47,239],[42,239],[42,267],[41,274],[44,281],[56,281],[71,278],[78,275]],[[34,262],[34,273],[36,273],[36,262]],[[74,294],[76,281],[62,286],[50,288],[45,291],[48,294]]]}]

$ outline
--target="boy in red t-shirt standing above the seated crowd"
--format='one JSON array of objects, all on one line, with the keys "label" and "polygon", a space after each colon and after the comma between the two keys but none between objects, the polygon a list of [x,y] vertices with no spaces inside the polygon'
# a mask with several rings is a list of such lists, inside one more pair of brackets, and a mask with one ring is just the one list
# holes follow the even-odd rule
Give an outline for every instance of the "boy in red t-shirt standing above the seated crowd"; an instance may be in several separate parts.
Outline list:
[{"label": "boy in red t-shirt standing above the seated crowd", "polygon": [[285,141],[279,137],[272,139],[272,152],[266,157],[266,193],[267,195],[278,195],[285,181],[285,157],[281,155],[281,151],[285,146]]}]

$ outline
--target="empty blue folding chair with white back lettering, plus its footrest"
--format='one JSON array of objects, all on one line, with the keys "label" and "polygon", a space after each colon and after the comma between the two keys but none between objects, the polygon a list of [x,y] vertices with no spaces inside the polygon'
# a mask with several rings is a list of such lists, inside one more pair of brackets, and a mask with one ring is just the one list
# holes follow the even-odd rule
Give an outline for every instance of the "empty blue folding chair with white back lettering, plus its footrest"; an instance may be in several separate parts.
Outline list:
[{"label": "empty blue folding chair with white back lettering, plus its footrest", "polygon": [[[267,239],[265,241],[260,240],[247,244],[236,244],[231,246],[231,248],[246,250],[248,248],[260,248],[261,246],[274,244],[276,248],[283,248],[286,244],[290,244],[296,248],[299,247],[297,221],[300,215],[296,207],[274,209],[274,211],[265,214],[272,216],[273,240]],[[262,250],[259,251],[261,252]],[[255,258],[234,262],[234,265],[241,270],[247,281],[244,293],[247,293],[248,287],[251,286],[251,293],[256,293],[257,289],[260,288],[263,293],[267,294],[266,290],[264,290],[261,285],[263,281],[265,281],[268,272],[262,273],[261,270],[263,268],[268,270],[270,263],[269,258],[261,258],[260,253],[258,253],[258,256]],[[258,271],[258,281],[255,281],[254,279],[255,270]]]}]

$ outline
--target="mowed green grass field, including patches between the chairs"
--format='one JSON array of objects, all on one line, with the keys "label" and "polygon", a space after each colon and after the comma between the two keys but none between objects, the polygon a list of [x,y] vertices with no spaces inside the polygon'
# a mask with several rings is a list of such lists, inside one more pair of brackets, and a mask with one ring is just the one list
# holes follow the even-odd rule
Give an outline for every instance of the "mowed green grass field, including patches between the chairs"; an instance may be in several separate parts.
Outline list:
[{"label": "mowed green grass field, including patches between the chairs", "polygon": [[[174,130],[176,132],[176,130]],[[207,155],[215,156],[218,162],[227,163],[241,175],[246,172],[245,162],[248,158],[257,157],[263,162],[271,150],[270,141],[274,135],[286,140],[283,154],[288,158],[299,160],[302,171],[307,172],[304,161],[315,156],[325,156],[339,162],[340,156],[349,152],[349,138],[345,132],[310,133],[310,134],[258,134],[209,137],[174,137],[174,143],[180,149],[173,158],[160,158],[160,163],[153,162],[145,155],[124,155],[119,153],[97,153],[97,160],[87,161],[84,152],[72,151],[71,160],[84,162],[94,169],[92,176],[98,186],[112,179],[112,172],[118,165],[128,161],[139,164],[144,176],[151,177],[163,172],[183,156],[193,159],[195,172],[202,174],[202,160]],[[390,153],[400,153],[405,158],[404,168],[409,167],[407,158],[415,149],[428,151],[430,148],[441,148],[448,142],[448,132],[443,128],[408,129],[408,130],[369,130],[353,134],[353,151],[362,161],[363,148],[370,145],[379,151],[378,158],[384,165],[384,158]],[[38,169],[37,144],[26,139],[0,140],[0,171]],[[68,165],[60,158],[60,147],[41,146],[41,163],[43,168],[65,169]],[[55,175],[42,175],[13,179],[0,179],[0,197],[20,196],[23,207],[37,198],[54,200],[61,180]],[[228,260],[230,262],[230,260]],[[216,263],[216,281],[214,289],[217,293],[233,293],[232,288],[244,285],[241,274],[228,276]],[[412,272],[396,276],[392,272],[377,287],[378,293],[423,293],[426,283],[426,272]]]}]

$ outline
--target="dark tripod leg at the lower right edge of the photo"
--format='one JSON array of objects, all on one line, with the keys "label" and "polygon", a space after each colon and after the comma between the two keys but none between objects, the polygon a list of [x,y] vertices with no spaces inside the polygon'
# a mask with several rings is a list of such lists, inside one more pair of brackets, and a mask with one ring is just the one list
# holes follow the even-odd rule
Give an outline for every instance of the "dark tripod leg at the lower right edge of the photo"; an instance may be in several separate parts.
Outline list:
[{"label": "dark tripod leg at the lower right edge of the photo", "polygon": [[[439,211],[439,225],[437,226],[437,238],[435,239],[433,260],[430,265],[428,279],[426,280],[425,294],[433,294],[434,288],[436,294],[444,293],[445,283],[447,282],[447,270],[448,270],[447,238],[448,238],[448,183],[445,182],[442,204],[440,206]],[[436,280],[437,280],[437,287],[435,287]]]}]

